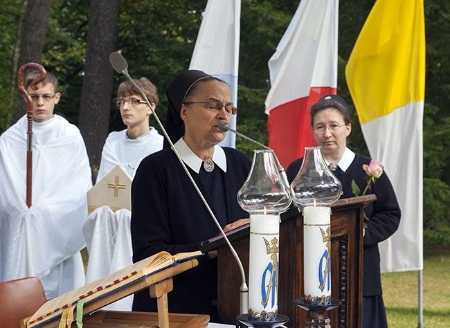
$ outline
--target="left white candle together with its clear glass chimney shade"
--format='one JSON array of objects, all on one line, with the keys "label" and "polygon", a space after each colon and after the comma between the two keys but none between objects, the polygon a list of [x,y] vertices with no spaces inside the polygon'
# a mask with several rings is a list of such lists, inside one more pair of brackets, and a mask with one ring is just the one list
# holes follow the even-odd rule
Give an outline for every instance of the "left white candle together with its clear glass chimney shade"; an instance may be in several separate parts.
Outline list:
[{"label": "left white candle together with its clear glass chimney shade", "polygon": [[278,320],[280,212],[291,204],[272,150],[255,150],[249,176],[237,193],[250,214],[249,320]]}]

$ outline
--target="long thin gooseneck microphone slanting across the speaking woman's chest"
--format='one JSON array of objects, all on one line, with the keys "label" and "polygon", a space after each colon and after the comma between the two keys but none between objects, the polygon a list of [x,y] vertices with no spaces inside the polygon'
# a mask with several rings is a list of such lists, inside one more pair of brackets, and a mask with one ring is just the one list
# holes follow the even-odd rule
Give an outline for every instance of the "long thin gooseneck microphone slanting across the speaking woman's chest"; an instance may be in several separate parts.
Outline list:
[{"label": "long thin gooseneck microphone slanting across the speaking woman's chest", "polygon": [[[163,124],[161,123],[161,120],[159,120],[158,115],[154,111],[154,108],[152,107],[152,104],[147,99],[147,96],[145,95],[144,91],[138,86],[138,84],[136,84],[136,82],[134,82],[134,80],[131,78],[131,76],[129,76],[129,74],[128,74],[128,63],[125,60],[125,58],[123,57],[123,55],[120,55],[120,53],[118,53],[117,51],[114,51],[114,53],[111,53],[109,55],[109,62],[111,63],[111,66],[113,67],[114,71],[116,71],[117,73],[125,75],[128,78],[128,80],[130,82],[132,82],[134,84],[134,86],[136,86],[136,88],[139,90],[139,92],[141,92],[141,95],[143,96],[145,102],[147,102],[147,105],[152,110],[153,116],[156,119],[156,122],[158,122],[158,125],[159,125],[161,131],[163,131],[163,134],[164,134],[165,138],[168,140],[168,143],[169,143],[170,147],[174,151],[175,155],[178,158],[178,161],[180,162],[181,166],[183,167],[183,170],[188,175],[188,178],[190,179],[190,182],[192,183],[192,185],[194,186],[195,190],[197,191],[197,194],[199,194],[199,197],[201,198],[201,201],[203,201],[204,205],[206,206],[206,209],[210,213],[210,216],[213,218],[213,221],[214,221],[215,225],[217,226],[217,228],[219,228],[219,231],[222,234],[222,236],[224,236],[224,240],[225,240],[226,244],[228,244],[228,247],[230,248],[231,253],[233,254],[233,257],[235,257],[235,259],[236,259],[237,266],[239,266],[240,274],[241,274],[241,277],[242,277],[242,284],[241,284],[240,289],[239,289],[239,291],[240,291],[240,311],[241,311],[241,314],[249,313],[249,287],[246,284],[244,266],[242,266],[242,262],[241,262],[241,259],[240,259],[239,255],[237,255],[236,250],[231,245],[230,240],[228,239],[228,237],[226,237],[226,234],[224,233],[224,230],[222,229],[222,226],[220,226],[219,221],[217,221],[217,218],[215,217],[213,210],[211,210],[211,208],[208,205],[208,202],[206,201],[205,197],[203,196],[203,194],[201,194],[201,191],[200,191],[197,183],[195,183],[195,181],[192,178],[192,175],[190,174],[188,168],[186,167],[186,165],[184,164],[183,160],[181,159],[181,156],[177,152],[177,149],[175,149],[174,144],[172,143],[172,140],[170,140],[170,137],[169,137],[167,131],[165,131],[165,128],[164,128]],[[226,122],[226,123],[228,124],[228,122]]]}]

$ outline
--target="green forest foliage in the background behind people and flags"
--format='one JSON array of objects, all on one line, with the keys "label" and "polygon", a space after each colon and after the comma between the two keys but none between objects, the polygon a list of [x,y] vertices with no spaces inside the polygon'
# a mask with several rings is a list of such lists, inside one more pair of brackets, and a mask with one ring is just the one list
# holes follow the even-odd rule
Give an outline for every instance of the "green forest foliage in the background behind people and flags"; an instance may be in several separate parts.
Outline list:
[{"label": "green forest foliage in the background behind people and flags", "polygon": [[[30,1],[30,0],[29,0]],[[267,145],[264,100],[270,89],[267,62],[285,33],[299,0],[242,0],[237,129]],[[17,91],[10,93],[12,57],[22,0],[3,0],[0,11],[0,133],[8,127]],[[53,0],[43,64],[60,81],[62,100],[55,110],[78,122],[91,1]],[[175,75],[188,69],[201,15],[207,0],[121,0],[118,44],[134,78],[146,76],[159,89],[157,108],[164,122],[165,89]],[[338,93],[348,101],[353,118],[348,140],[354,151],[368,155],[348,87],[345,65],[375,0],[339,1]],[[426,103],[424,109],[424,224],[450,226],[450,1],[425,0]],[[217,22],[220,24],[220,22]],[[111,102],[123,76],[115,73]],[[21,95],[19,95],[21,97]],[[110,130],[124,125],[115,106]],[[154,118],[152,118],[154,120]],[[151,122],[156,125],[156,122]],[[407,129],[408,127],[405,127]],[[237,148],[253,157],[257,146],[237,136]]]}]

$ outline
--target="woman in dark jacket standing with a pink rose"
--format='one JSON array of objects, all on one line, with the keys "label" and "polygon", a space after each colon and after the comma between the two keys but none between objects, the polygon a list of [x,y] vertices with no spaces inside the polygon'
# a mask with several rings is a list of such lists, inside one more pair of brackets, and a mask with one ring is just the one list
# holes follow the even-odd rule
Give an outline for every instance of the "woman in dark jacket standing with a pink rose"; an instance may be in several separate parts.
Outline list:
[{"label": "woman in dark jacket standing with a pink rose", "polygon": [[[347,147],[352,125],[345,100],[339,95],[325,95],[318,100],[311,107],[311,125],[325,161],[342,183],[341,199],[355,196],[352,181],[357,183],[360,190],[364,190],[367,174],[362,166],[369,165],[371,159],[355,154]],[[302,162],[303,158],[299,158],[289,165],[289,182],[295,179]],[[363,328],[382,328],[388,327],[388,324],[381,291],[378,243],[395,233],[401,214],[386,173],[381,174],[370,187],[368,193],[376,194],[377,200],[364,208],[368,221],[363,230]]]}]

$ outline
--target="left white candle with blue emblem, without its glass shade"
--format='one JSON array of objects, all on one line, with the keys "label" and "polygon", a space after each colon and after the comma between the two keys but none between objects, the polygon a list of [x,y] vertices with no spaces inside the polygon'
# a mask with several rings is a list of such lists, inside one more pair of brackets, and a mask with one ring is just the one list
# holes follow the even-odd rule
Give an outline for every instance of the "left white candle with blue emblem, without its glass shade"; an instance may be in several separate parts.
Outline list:
[{"label": "left white candle with blue emblem, without its glass shade", "polygon": [[249,318],[277,319],[280,215],[250,215]]}]

